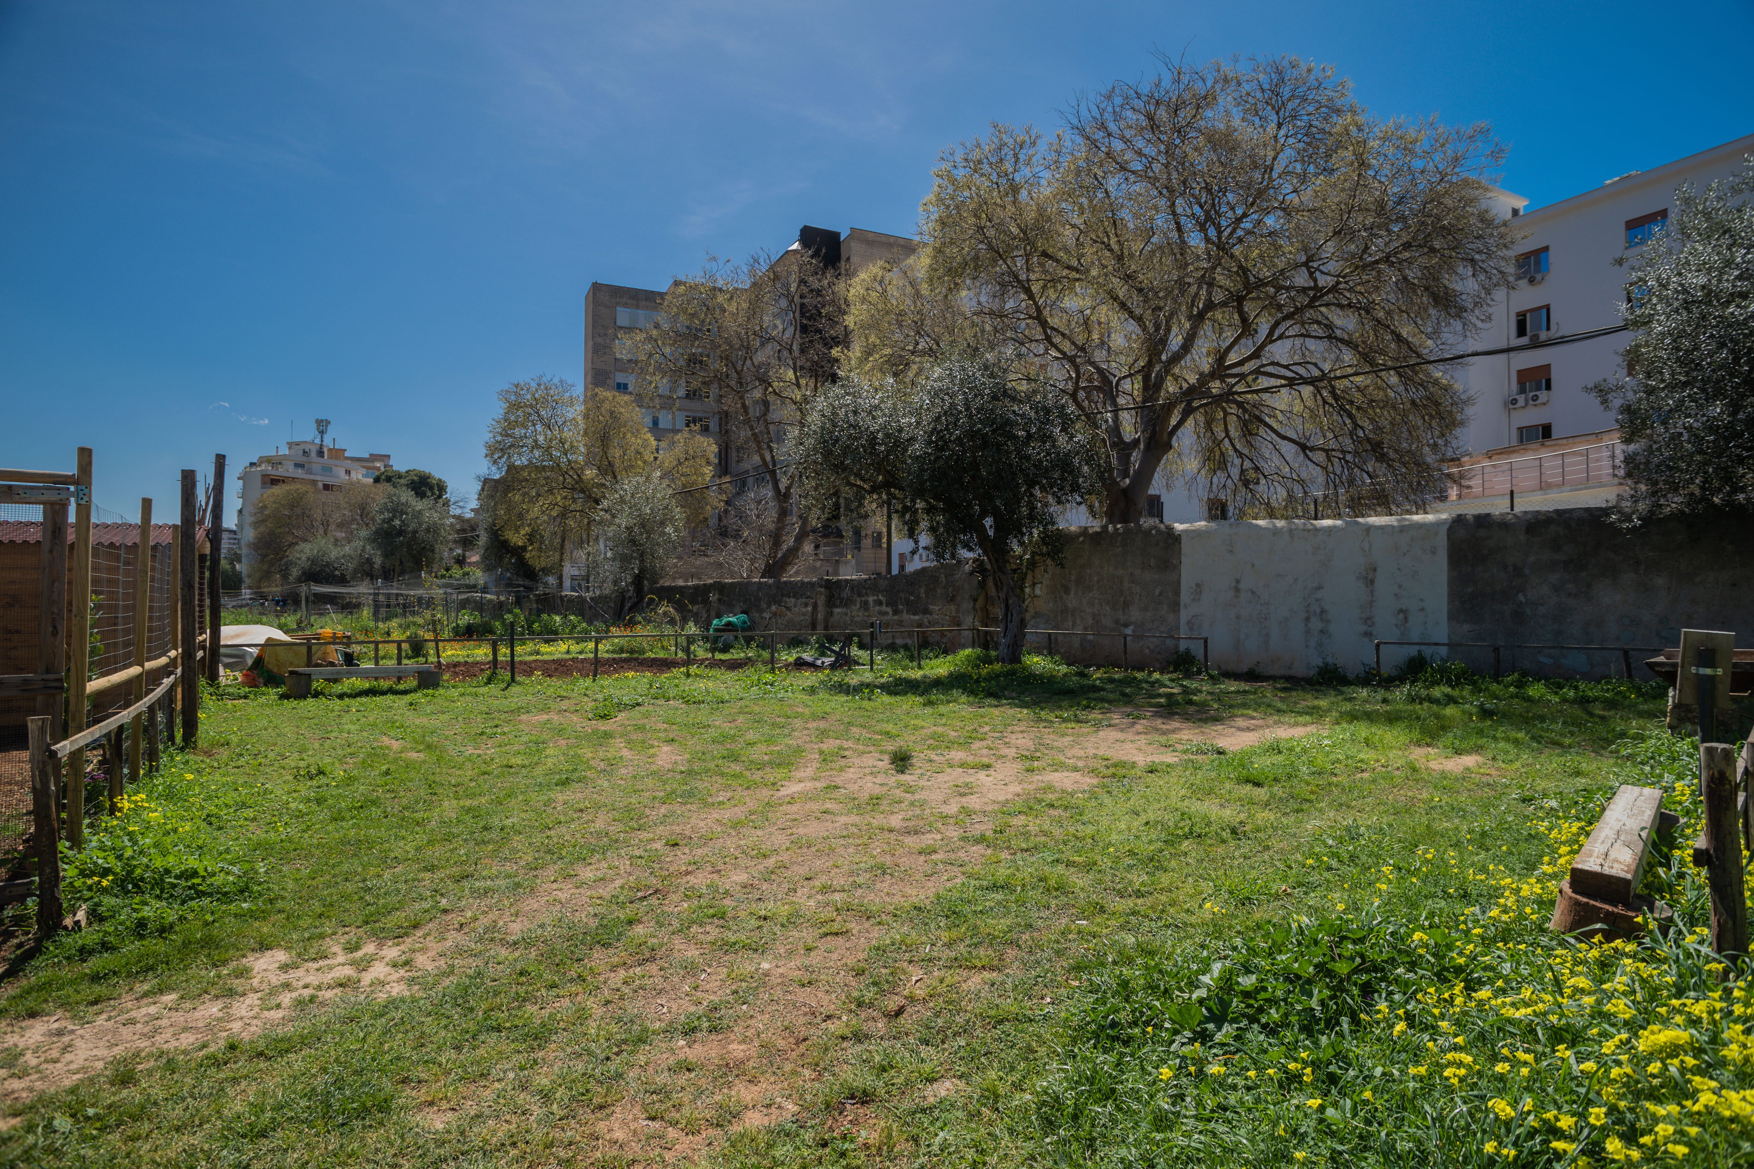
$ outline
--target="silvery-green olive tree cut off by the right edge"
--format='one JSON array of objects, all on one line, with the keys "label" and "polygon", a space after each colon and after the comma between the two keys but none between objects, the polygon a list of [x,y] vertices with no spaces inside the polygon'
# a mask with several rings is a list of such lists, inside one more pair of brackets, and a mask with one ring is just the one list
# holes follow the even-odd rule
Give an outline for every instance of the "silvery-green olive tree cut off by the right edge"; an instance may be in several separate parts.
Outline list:
[{"label": "silvery-green olive tree cut off by the right edge", "polygon": [[1629,377],[1589,389],[1615,408],[1631,485],[1622,517],[1754,508],[1754,156],[1673,214],[1631,273]]}]

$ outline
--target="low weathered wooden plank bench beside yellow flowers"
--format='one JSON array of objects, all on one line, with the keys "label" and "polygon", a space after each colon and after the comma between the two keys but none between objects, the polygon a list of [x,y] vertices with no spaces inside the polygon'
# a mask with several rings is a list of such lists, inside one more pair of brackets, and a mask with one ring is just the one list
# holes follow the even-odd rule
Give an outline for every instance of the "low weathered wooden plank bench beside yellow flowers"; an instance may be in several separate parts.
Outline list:
[{"label": "low weathered wooden plank bench beside yellow flowers", "polygon": [[1643,917],[1658,922],[1673,917],[1661,901],[1638,896],[1638,878],[1651,859],[1658,829],[1673,831],[1679,824],[1679,817],[1663,811],[1659,789],[1622,783],[1572,861],[1570,875],[1559,882],[1552,929],[1561,934],[1607,931],[1631,936],[1642,931]]}]

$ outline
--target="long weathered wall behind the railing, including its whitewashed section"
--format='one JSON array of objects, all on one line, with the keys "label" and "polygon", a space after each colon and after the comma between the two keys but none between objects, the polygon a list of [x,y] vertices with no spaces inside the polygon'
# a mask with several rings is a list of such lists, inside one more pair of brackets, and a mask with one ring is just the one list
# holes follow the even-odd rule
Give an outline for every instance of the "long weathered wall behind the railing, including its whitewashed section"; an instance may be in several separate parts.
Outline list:
[{"label": "long weathered wall behind the railing, including its whitewashed section", "polygon": [[[656,591],[691,620],[747,612],[761,629],[995,626],[991,598],[961,564],[898,577],[721,580]],[[1393,515],[1347,521],[1233,521],[1077,528],[1061,568],[1030,605],[1054,654],[1077,662],[1156,666],[1177,650],[1166,633],[1210,636],[1224,671],[1307,677],[1323,662],[1358,673],[1372,641],[1677,645],[1682,627],[1733,629],[1754,645],[1754,587],[1701,524],[1633,533],[1605,508],[1491,515]],[[1119,636],[1128,634],[1126,648]],[[947,648],[959,634],[937,636]],[[1045,648],[1045,638],[1031,643]],[[1189,643],[1189,648],[1198,648]],[[1384,668],[1442,647],[1386,647]],[[1479,670],[1489,650],[1452,648]],[[1619,650],[1503,650],[1505,670],[1617,677]],[[1638,670],[1635,677],[1649,677]]]}]

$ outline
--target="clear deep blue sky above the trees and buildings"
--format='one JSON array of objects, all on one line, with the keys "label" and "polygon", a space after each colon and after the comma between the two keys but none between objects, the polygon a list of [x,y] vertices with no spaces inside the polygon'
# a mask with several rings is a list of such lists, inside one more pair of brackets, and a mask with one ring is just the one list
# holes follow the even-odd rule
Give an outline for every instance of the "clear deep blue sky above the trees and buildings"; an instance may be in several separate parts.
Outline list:
[{"label": "clear deep blue sky above the trees and buildings", "polygon": [[1754,130],[1750,47],[1747,2],[0,0],[0,466],[91,445],[165,512],[321,415],[468,496],[495,389],[581,380],[591,280],[912,233],[947,144],[1152,49],[1489,121],[1542,205]]}]

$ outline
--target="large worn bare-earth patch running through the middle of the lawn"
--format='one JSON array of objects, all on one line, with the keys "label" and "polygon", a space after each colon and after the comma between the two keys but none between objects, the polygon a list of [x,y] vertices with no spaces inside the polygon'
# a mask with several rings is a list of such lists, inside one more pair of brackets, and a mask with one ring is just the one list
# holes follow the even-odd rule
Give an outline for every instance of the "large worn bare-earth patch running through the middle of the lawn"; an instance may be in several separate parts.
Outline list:
[{"label": "large worn bare-earth patch running through the middle of the lawn", "polygon": [[[1223,722],[1126,717],[1107,726],[1019,726],[970,747],[923,748],[898,773],[888,752],[830,741],[807,750],[775,790],[717,808],[677,811],[649,829],[660,869],[635,859],[581,873],[524,903],[512,927],[593,906],[642,910],[649,931],[637,955],[603,962],[598,1006],[633,1011],[660,1032],[628,1071],[619,1101],[582,1123],[603,1157],[695,1160],[730,1130],[775,1123],[821,1090],[812,1052],[837,1036],[882,1036],[916,1003],[995,976],[921,966],[893,971],[888,990],[856,1008],[870,976],[866,950],[886,918],[961,880],[988,852],[980,815],[1021,796],[1080,790],[1116,759],[1179,757],[1177,747],[1247,747],[1282,727],[1266,719]],[[814,727],[833,736],[833,727]],[[677,766],[667,752],[660,766]],[[723,906],[723,920],[688,924],[691,908]],[[672,927],[663,929],[661,922]],[[756,931],[751,920],[770,925]],[[731,943],[731,945],[728,945]],[[684,1034],[667,1024],[717,1010],[723,1031]],[[956,1081],[921,1088],[928,1099]],[[858,1109],[842,1108],[842,1122]],[[440,1125],[444,1113],[428,1122]]]}]

